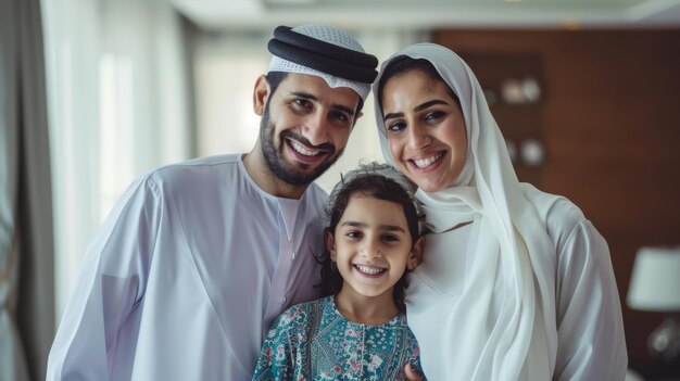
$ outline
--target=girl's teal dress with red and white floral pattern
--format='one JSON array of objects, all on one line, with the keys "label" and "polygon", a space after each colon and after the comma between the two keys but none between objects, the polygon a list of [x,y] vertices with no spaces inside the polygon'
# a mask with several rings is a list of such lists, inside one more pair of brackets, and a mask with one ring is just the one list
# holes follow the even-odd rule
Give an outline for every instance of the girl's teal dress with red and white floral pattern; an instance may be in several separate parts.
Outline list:
[{"label": "girl's teal dress with red and white floral pattern", "polygon": [[420,350],[400,314],[381,326],[344,318],[327,296],[286,310],[262,347],[255,380],[405,380],[419,374]]}]

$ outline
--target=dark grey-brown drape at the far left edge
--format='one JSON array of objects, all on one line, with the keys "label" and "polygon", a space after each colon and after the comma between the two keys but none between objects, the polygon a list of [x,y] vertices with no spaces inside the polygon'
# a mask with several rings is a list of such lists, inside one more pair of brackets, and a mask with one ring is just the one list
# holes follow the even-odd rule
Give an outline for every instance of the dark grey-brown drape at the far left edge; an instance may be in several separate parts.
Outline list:
[{"label": "dark grey-brown drape at the far left edge", "polygon": [[54,334],[39,0],[0,1],[0,380],[45,378]]}]

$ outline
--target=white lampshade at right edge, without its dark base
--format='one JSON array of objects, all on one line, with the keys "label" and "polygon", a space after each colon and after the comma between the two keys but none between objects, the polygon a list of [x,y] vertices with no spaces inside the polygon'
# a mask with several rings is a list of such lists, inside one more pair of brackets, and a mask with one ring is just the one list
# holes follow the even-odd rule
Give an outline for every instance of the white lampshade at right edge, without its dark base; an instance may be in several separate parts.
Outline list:
[{"label": "white lampshade at right edge, without its dark base", "polygon": [[680,247],[638,251],[627,303],[633,309],[680,312]]}]

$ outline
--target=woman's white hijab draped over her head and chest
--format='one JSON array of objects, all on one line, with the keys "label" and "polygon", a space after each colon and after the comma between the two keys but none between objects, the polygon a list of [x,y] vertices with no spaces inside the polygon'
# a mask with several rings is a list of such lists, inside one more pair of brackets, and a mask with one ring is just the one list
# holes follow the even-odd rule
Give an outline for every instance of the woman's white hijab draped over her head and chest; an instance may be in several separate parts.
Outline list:
[{"label": "woman's white hijab draped over her head and chest", "polygon": [[[475,252],[467,255],[478,258],[479,266],[466,269],[465,289],[458,302],[459,310],[467,310],[469,317],[456,317],[463,326],[454,332],[456,336],[446,338],[466,341],[469,350],[466,356],[471,368],[458,374],[473,374],[476,380],[517,380],[530,345],[545,351],[552,374],[556,357],[555,284],[534,274],[555,271],[555,249],[534,205],[527,200],[526,186],[517,180],[482,89],[458,55],[435,43],[407,47],[383,62],[373,93],[380,144],[386,161],[392,165],[378,87],[386,66],[399,55],[429,61],[458,97],[465,116],[468,152],[461,175],[444,190],[417,192],[435,233],[461,223],[478,223],[473,225],[467,246]],[[428,251],[448,249],[426,246]],[[502,288],[494,290],[499,278]],[[499,290],[502,295],[498,295]],[[492,297],[502,299],[495,313],[491,310]],[[435,325],[431,327],[436,329]],[[427,371],[429,350],[421,350]],[[463,354],[454,354],[458,355]]]}]

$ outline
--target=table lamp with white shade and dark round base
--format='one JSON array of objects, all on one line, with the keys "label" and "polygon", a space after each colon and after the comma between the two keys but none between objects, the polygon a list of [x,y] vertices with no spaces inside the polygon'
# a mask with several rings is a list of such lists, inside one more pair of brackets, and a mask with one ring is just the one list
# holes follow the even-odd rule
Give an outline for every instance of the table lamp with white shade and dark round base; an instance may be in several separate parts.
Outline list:
[{"label": "table lamp with white shade and dark round base", "polygon": [[647,339],[654,356],[673,364],[680,359],[680,246],[638,251],[628,288],[632,309],[666,313],[664,322]]}]

